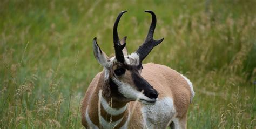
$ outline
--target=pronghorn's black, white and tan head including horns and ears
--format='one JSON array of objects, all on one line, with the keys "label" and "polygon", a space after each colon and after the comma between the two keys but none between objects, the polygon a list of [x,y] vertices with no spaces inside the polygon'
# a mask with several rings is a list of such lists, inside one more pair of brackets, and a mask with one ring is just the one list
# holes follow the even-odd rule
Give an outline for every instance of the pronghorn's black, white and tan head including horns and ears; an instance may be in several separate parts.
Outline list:
[{"label": "pronghorn's black, white and tan head including horns and ears", "polygon": [[158,92],[142,76],[142,61],[150,53],[154,46],[160,44],[160,40],[153,39],[154,29],[156,28],[156,15],[152,11],[145,11],[152,15],[152,22],[145,42],[136,52],[127,55],[125,47],[126,37],[119,40],[117,26],[123,13],[122,11],[114,23],[113,42],[115,56],[109,58],[99,47],[96,38],[93,39],[93,53],[95,58],[104,66],[105,80],[108,82],[110,96],[117,101],[135,101],[138,99],[144,104],[154,104],[158,97]]}]

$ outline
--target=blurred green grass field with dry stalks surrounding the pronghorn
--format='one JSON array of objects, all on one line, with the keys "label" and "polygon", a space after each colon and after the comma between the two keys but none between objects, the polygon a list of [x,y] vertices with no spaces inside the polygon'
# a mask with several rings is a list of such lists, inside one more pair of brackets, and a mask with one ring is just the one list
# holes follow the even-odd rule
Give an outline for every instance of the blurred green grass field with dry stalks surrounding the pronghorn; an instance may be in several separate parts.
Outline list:
[{"label": "blurred green grass field with dry stalks surrounding the pronghorn", "polygon": [[256,128],[256,1],[8,1],[0,3],[0,128],[82,128],[80,100],[103,68],[92,39],[114,52],[112,26],[133,52],[153,10],[144,63],[185,74],[196,96],[188,128]]}]

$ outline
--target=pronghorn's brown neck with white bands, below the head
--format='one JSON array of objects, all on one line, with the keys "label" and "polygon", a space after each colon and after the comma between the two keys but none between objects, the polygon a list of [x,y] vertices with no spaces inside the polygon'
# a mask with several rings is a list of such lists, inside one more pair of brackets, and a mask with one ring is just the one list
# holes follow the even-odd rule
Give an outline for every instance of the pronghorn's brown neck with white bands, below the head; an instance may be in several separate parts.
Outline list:
[{"label": "pronghorn's brown neck with white bands, below the head", "polygon": [[[103,78],[104,79],[104,78]],[[95,92],[86,110],[86,121],[91,127],[120,128],[127,126],[129,105],[119,102],[111,96],[108,83],[99,79]]]}]

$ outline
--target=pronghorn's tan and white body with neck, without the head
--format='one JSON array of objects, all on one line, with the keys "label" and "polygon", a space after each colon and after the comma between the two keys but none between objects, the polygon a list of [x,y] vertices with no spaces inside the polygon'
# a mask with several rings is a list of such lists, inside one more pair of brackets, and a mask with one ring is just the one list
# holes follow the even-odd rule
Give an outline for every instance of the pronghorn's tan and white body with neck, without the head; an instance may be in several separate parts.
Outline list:
[{"label": "pronghorn's tan and white body with neck, without the head", "polygon": [[109,101],[105,101],[108,98],[99,96],[100,89],[106,88],[103,87],[104,72],[92,80],[83,99],[82,124],[85,127],[165,128],[173,121],[176,128],[186,128],[186,113],[194,96],[192,84],[186,77],[164,65],[144,64],[142,77],[159,93],[156,104],[131,101],[111,107]]}]

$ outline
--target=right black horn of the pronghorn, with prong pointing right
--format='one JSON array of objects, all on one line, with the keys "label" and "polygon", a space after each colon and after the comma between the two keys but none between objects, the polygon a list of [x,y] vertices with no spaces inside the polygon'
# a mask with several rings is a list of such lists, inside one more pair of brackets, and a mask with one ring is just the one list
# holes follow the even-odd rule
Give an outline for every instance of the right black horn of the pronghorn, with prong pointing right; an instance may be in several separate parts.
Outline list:
[{"label": "right black horn of the pronghorn, with prong pointing right", "polygon": [[152,22],[144,43],[140,45],[139,49],[136,51],[136,53],[139,55],[140,62],[142,62],[146,58],[146,56],[149,55],[149,53],[155,46],[157,46],[164,40],[164,38],[160,40],[153,39],[154,29],[156,28],[156,24],[157,24],[157,18],[153,11],[147,10],[145,12],[150,13],[152,15]]}]

